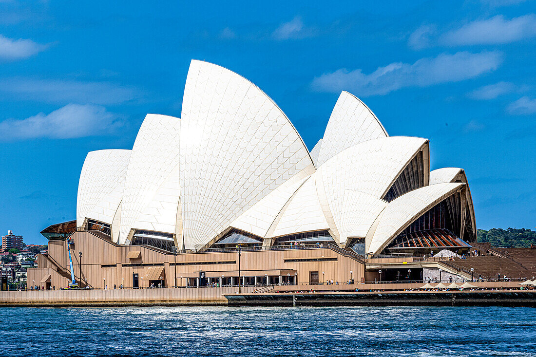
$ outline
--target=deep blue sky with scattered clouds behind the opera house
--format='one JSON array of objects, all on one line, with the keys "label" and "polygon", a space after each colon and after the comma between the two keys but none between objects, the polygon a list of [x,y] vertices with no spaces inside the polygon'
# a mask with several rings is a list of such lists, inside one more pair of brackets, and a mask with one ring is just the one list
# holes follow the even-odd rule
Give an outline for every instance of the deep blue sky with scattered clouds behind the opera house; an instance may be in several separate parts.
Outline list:
[{"label": "deep blue sky with scattered clouds behind the opera house", "polygon": [[75,219],[87,152],[180,117],[192,58],[259,86],[310,149],[347,90],[466,170],[479,228],[534,228],[535,2],[230,3],[0,0],[2,235]]}]

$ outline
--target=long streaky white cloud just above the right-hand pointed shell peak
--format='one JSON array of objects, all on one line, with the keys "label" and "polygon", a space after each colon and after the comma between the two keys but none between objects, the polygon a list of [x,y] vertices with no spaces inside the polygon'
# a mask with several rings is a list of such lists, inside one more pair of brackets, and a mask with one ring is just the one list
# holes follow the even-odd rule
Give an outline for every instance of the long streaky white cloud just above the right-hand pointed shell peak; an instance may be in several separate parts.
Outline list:
[{"label": "long streaky white cloud just above the right-hand pointed shell peak", "polygon": [[391,63],[369,75],[361,69],[339,69],[312,80],[311,88],[319,92],[347,90],[358,96],[383,95],[404,87],[427,87],[477,77],[497,69],[501,53],[458,52],[421,58],[413,64]]}]

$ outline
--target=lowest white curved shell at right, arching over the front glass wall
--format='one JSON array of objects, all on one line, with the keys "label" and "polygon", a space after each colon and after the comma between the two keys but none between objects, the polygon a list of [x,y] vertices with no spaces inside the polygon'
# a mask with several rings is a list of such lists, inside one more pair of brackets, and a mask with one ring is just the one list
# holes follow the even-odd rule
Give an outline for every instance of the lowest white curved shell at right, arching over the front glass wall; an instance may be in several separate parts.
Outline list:
[{"label": "lowest white curved shell at right, arching over the front glass wall", "polygon": [[464,183],[438,183],[393,199],[379,219],[373,238],[366,242],[367,252],[380,252],[415,219],[461,187],[464,187]]}]

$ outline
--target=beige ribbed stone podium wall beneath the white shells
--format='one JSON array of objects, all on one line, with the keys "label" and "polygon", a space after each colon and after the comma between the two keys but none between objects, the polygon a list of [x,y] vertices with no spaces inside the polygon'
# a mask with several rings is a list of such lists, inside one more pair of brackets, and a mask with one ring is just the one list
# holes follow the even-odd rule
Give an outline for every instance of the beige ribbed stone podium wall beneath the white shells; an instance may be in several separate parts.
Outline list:
[{"label": "beige ribbed stone podium wall beneath the white shells", "polygon": [[[175,266],[173,254],[163,254],[157,249],[140,246],[118,246],[89,232],[76,232],[71,236],[73,270],[77,282],[80,279],[78,252],[82,252],[81,278],[95,288],[109,288],[124,284],[132,287],[132,274],[139,274],[140,286],[152,266],[163,266],[163,280],[166,286],[174,286]],[[129,252],[139,251],[139,258],[127,258]],[[184,286],[186,278],[199,277],[203,270],[206,277],[238,277],[236,252],[178,254],[176,256],[177,286]],[[299,284],[309,282],[310,272],[318,272],[320,281],[333,279],[347,281],[351,277],[356,282],[364,277],[364,265],[340,255],[329,248],[243,251],[241,255],[241,276],[286,276],[297,272]],[[48,256],[38,255],[38,269],[28,270],[28,281],[41,281],[50,270],[51,286],[66,287],[70,281],[69,256],[66,240],[50,241]],[[353,272],[352,274],[350,272]],[[324,274],[322,274],[324,272]],[[181,278],[182,277],[182,278]],[[143,287],[148,287],[143,281]]]}]

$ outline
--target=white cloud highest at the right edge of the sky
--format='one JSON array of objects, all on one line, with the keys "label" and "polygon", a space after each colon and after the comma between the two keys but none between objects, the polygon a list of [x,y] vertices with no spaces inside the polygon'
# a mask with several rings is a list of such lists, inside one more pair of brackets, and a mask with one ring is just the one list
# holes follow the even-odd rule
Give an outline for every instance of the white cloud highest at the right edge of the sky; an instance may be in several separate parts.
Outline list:
[{"label": "white cloud highest at the right edge of the sky", "polygon": [[448,46],[466,44],[509,43],[536,36],[536,15],[528,14],[510,20],[502,15],[477,20],[445,33],[440,43]]}]

